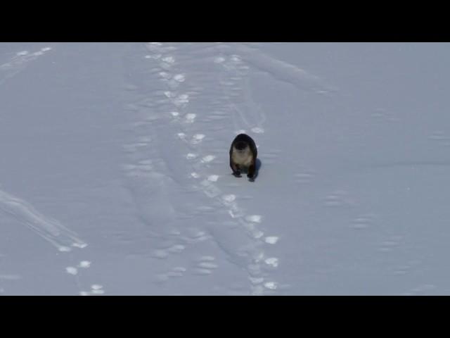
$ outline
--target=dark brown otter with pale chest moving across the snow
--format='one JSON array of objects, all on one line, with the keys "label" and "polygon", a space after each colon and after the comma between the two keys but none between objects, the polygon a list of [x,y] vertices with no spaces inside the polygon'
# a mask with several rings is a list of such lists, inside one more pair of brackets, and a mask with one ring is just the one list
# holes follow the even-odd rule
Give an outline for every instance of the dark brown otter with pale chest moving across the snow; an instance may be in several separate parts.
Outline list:
[{"label": "dark brown otter with pale chest moving across the snow", "polygon": [[230,147],[230,167],[233,175],[240,177],[240,170],[247,170],[250,180],[255,178],[257,147],[247,134],[238,134]]}]

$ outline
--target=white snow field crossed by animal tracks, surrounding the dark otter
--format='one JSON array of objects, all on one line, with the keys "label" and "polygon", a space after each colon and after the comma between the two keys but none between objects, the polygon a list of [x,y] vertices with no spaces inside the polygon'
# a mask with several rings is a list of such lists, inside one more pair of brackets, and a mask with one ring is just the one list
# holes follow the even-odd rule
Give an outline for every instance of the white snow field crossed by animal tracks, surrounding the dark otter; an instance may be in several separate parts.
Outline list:
[{"label": "white snow field crossed by animal tracks, surrounding the dark otter", "polygon": [[449,60],[0,43],[0,294],[450,294]]}]

